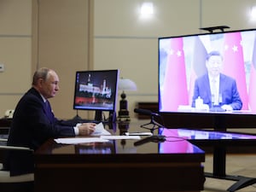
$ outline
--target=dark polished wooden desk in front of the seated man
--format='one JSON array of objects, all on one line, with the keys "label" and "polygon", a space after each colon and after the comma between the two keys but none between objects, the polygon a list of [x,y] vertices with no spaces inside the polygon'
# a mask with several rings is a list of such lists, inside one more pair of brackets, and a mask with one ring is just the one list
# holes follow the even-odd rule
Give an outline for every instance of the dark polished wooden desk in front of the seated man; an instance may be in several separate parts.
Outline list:
[{"label": "dark polished wooden desk in front of the seated man", "polygon": [[[128,125],[112,127],[119,135]],[[131,123],[129,131],[142,131]],[[143,130],[145,131],[145,130]],[[62,145],[50,139],[35,152],[35,192],[187,191],[205,181],[205,154],[175,137],[134,147],[134,140]],[[161,150],[165,146],[167,151]],[[178,146],[182,146],[181,148]]]}]

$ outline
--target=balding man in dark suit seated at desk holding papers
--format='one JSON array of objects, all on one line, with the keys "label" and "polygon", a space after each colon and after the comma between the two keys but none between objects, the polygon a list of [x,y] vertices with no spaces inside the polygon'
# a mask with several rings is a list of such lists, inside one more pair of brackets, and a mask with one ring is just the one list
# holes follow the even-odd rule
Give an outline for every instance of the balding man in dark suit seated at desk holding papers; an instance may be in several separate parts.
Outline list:
[{"label": "balding man in dark suit seated at desk holding papers", "polygon": [[[49,68],[40,68],[34,73],[32,88],[18,102],[9,130],[8,145],[37,150],[51,137],[74,137],[90,135],[94,123],[67,124],[55,118],[48,99],[59,90],[59,77]],[[10,151],[4,169],[11,175],[33,172],[33,155],[29,152]]]}]

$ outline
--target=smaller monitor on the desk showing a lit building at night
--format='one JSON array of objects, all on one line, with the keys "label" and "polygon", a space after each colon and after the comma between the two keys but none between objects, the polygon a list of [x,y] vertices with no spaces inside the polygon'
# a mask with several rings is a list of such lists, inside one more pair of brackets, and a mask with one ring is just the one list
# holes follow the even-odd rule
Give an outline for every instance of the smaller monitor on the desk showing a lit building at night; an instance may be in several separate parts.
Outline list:
[{"label": "smaller monitor on the desk showing a lit building at night", "polygon": [[118,79],[118,69],[76,72],[73,109],[94,110],[97,121],[102,121],[102,111],[107,111],[108,120],[115,120]]}]

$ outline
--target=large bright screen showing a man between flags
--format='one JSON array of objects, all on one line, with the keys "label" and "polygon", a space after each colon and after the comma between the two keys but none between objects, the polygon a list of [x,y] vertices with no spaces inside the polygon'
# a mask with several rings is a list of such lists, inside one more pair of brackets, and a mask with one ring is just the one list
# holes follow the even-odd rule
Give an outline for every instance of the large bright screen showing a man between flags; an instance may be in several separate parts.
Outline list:
[{"label": "large bright screen showing a man between flags", "polygon": [[159,38],[160,113],[256,113],[256,29]]}]

